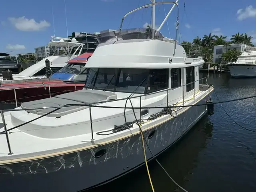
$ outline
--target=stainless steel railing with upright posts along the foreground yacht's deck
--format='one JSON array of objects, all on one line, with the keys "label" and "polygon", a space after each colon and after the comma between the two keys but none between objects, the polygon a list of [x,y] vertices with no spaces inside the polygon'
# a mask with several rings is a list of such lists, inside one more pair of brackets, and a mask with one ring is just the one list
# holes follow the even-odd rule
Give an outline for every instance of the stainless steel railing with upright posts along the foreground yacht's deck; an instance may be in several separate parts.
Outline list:
[{"label": "stainless steel railing with upright posts along the foreground yacht's deck", "polygon": [[[139,99],[140,99],[140,123],[141,123],[141,116],[142,116],[142,115],[141,115],[141,112],[142,112],[141,98],[142,98],[142,97],[148,96],[148,95],[152,95],[152,94],[161,93],[161,92],[166,92],[166,99],[167,99],[166,107],[168,108],[168,106],[169,106],[168,91],[169,91],[169,90],[174,90],[174,89],[177,89],[177,88],[180,88],[180,87],[183,87],[183,95],[182,95],[182,97],[183,97],[183,106],[184,106],[184,102],[185,102],[185,89],[184,89],[184,87],[187,86],[187,85],[189,85],[189,84],[194,83],[194,88],[193,88],[193,94],[192,94],[192,96],[193,96],[193,99],[195,99],[195,90],[196,90],[196,88],[195,88],[195,83],[196,83],[196,82],[200,82],[200,80],[201,80],[201,82],[202,82],[201,85],[203,85],[203,80],[204,80],[204,79],[206,79],[206,85],[207,85],[207,87],[208,87],[207,78],[205,77],[205,78],[201,78],[201,79],[199,79],[199,80],[196,80],[196,81],[194,81],[194,82],[190,82],[190,83],[188,83],[188,84],[181,85],[181,86],[176,87],[176,88],[168,88],[168,89],[165,89],[165,90],[160,90],[160,91],[157,91],[157,92],[152,92],[152,93],[146,94],[146,95],[139,95],[139,96],[130,97],[130,99],[134,99],[134,98],[139,98]],[[199,85],[200,85],[200,84],[199,84]],[[15,89],[14,89],[14,90],[15,90]],[[190,95],[190,94],[191,94],[191,91],[192,91],[192,90],[190,90],[186,95]],[[199,91],[200,91],[200,90],[199,90]],[[202,88],[201,88],[201,94],[203,94]],[[109,101],[105,101],[105,102],[94,102],[94,103],[89,103],[89,104],[86,104],[86,105],[85,105],[85,106],[88,106],[88,107],[89,107],[89,113],[90,113],[90,127],[91,127],[91,134],[92,134],[92,139],[91,139],[91,141],[94,141],[93,122],[92,122],[92,111],[91,111],[91,108],[94,107],[94,104],[107,103],[107,102],[114,102],[114,101],[127,100],[127,99],[128,99],[128,98],[121,98],[121,99],[109,100]],[[178,99],[178,98],[176,98],[176,99]],[[176,99],[175,99],[175,100],[176,100]],[[174,100],[172,100],[172,101],[174,101]],[[161,105],[162,105],[162,104],[161,104]],[[66,106],[58,106],[58,107],[40,107],[40,108],[29,108],[29,109],[16,108],[16,109],[0,110],[1,116],[2,116],[2,122],[3,122],[3,124],[4,124],[4,132],[0,132],[0,134],[5,134],[5,135],[6,135],[6,141],[7,141],[8,150],[9,150],[8,155],[12,155],[13,152],[12,152],[12,150],[11,150],[10,140],[9,140],[9,137],[8,137],[8,134],[10,134],[10,133],[8,133],[8,131],[9,131],[10,129],[7,130],[6,122],[5,122],[5,118],[4,118],[4,112],[8,112],[8,111],[23,111],[23,110],[39,110],[39,109],[50,109],[50,108],[55,109],[55,110],[52,111],[52,112],[54,112],[54,111],[56,111],[56,110],[58,110],[58,109],[60,109],[60,108],[65,108],[65,107],[70,107],[70,106],[75,106],[75,105],[66,105]],[[104,106],[103,106],[103,107],[104,107]],[[182,106],[180,106],[180,107],[182,107]],[[165,108],[165,107],[163,106],[163,108]],[[52,112],[50,112],[50,113],[52,113]],[[49,114],[50,114],[50,113],[49,113]],[[168,115],[168,112],[167,112],[167,115]],[[44,116],[45,116],[45,115],[44,115]],[[41,116],[41,117],[43,117],[43,116]],[[41,117],[39,117],[39,118],[41,118]],[[37,120],[37,119],[39,119],[39,118],[36,118],[36,119],[34,119],[34,120]],[[32,121],[34,121],[34,120],[32,120]],[[32,122],[32,121],[30,121],[30,122]],[[27,122],[27,123],[24,123],[23,125],[25,125],[25,124],[28,124],[28,122]],[[22,126],[23,126],[23,125],[22,125]],[[11,129],[14,129],[14,128],[11,128]]]}]

